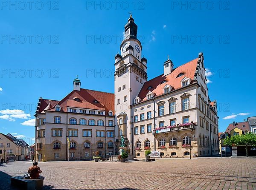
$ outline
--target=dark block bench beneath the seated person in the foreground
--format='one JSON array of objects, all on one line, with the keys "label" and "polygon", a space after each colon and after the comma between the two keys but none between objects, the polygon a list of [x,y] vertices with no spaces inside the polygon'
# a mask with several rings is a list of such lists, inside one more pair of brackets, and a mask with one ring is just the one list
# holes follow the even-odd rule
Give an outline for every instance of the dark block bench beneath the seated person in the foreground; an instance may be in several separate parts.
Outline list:
[{"label": "dark block bench beneath the seated person in the foreground", "polygon": [[22,190],[42,190],[44,179],[23,179],[23,176],[11,177],[11,185]]}]

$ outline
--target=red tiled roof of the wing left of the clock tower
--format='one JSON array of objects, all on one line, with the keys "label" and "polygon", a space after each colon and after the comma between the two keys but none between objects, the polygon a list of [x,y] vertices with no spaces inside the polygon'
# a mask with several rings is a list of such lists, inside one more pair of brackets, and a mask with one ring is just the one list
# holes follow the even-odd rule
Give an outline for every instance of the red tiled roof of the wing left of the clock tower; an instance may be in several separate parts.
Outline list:
[{"label": "red tiled roof of the wing left of the clock tower", "polygon": [[[79,98],[80,101],[74,100],[75,98]],[[72,91],[47,111],[55,111],[55,105],[61,107],[61,112],[67,112],[67,107],[73,107],[102,110],[108,114],[108,111],[114,112],[114,94],[81,88],[81,91]]]}]

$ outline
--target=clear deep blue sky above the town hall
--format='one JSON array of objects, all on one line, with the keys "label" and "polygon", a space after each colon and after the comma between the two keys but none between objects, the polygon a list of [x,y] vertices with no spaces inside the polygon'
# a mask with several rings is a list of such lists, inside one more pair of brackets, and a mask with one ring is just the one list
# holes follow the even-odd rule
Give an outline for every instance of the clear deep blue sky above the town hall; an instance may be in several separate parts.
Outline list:
[{"label": "clear deep blue sky above the town hall", "polygon": [[62,99],[76,75],[82,88],[113,93],[114,56],[129,11],[148,79],[163,73],[167,55],[177,67],[203,51],[219,131],[256,115],[255,1],[36,2],[0,5],[0,132],[31,144],[38,98]]}]

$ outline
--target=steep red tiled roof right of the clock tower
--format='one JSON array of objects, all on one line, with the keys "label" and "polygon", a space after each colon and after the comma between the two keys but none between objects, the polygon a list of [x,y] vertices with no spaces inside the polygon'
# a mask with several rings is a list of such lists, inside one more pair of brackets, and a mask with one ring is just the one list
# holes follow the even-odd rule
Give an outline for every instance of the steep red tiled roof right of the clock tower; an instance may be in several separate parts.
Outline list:
[{"label": "steep red tiled roof right of the clock tower", "polygon": [[[153,92],[156,94],[156,96],[162,95],[163,88],[167,84],[172,86],[172,91],[181,88],[181,81],[184,79],[184,77],[190,78],[193,81],[197,61],[198,58],[173,69],[172,72],[166,76],[161,74],[160,76],[145,82],[142,89],[140,90],[138,97],[140,97],[143,101],[146,100],[148,91]],[[183,73],[184,75],[177,77],[180,73]],[[164,80],[167,82],[161,84]],[[148,89],[149,86],[151,86],[150,89]]]}]

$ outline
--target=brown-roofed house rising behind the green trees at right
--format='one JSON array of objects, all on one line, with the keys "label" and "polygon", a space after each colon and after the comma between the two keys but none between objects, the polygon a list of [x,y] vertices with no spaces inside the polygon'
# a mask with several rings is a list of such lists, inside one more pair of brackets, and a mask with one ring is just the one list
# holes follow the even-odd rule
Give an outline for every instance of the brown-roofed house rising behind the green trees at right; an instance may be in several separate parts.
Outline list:
[{"label": "brown-roofed house rising behind the green trees at right", "polygon": [[225,136],[234,136],[234,135],[241,135],[251,132],[249,122],[233,122],[228,125]]}]

